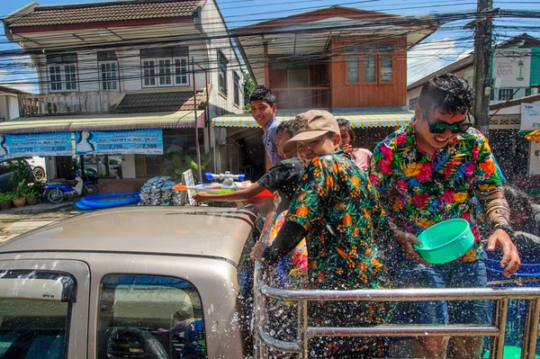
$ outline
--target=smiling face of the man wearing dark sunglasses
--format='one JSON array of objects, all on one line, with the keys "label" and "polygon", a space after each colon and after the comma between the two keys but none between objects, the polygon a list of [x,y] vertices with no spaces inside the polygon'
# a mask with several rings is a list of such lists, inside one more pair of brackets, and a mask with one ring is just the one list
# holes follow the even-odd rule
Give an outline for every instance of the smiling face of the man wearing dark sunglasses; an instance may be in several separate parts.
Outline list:
[{"label": "smiling face of the man wearing dark sunglasses", "polygon": [[433,155],[438,150],[445,148],[448,142],[455,139],[458,134],[453,133],[450,129],[446,129],[442,133],[431,133],[429,131],[429,123],[444,122],[452,125],[455,123],[466,122],[467,112],[445,113],[441,112],[440,109],[424,112],[417,104],[415,107],[415,118],[417,121],[415,121],[414,124],[414,132],[417,137],[419,148]]}]

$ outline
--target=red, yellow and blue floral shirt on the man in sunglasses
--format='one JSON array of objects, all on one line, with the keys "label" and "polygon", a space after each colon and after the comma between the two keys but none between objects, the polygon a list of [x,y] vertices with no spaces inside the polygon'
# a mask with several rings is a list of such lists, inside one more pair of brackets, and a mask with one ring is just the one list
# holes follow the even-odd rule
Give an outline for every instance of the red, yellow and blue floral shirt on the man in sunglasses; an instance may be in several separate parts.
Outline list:
[{"label": "red, yellow and blue floral shirt on the man in sunglasses", "polygon": [[468,220],[475,244],[457,261],[472,262],[482,255],[475,193],[500,186],[490,145],[469,129],[430,156],[419,150],[413,124],[414,119],[377,145],[370,178],[399,229],[418,236],[443,220]]}]

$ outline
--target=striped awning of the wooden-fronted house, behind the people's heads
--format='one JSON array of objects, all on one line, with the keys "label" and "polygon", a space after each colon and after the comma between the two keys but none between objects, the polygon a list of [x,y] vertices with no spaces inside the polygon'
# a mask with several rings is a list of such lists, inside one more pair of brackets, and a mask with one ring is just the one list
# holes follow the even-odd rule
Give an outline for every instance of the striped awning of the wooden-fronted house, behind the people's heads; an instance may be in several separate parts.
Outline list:
[{"label": "striped awning of the wooden-fronted house, behind the people's heads", "polygon": [[[276,119],[278,121],[293,120],[298,113],[305,111],[307,110],[278,110]],[[347,108],[334,109],[330,112],[337,118],[350,121],[354,128],[402,126],[414,115],[414,112],[403,110],[401,107]],[[247,113],[215,117],[211,125],[213,127],[259,127],[251,114]]]}]

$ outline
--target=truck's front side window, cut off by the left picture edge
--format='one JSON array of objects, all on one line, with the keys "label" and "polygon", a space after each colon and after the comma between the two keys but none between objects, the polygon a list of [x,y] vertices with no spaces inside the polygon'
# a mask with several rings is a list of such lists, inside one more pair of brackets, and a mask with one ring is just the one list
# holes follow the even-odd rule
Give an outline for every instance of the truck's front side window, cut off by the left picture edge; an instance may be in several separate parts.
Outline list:
[{"label": "truck's front side window, cut off by the left picture edge", "polygon": [[0,271],[0,358],[65,358],[75,289],[68,274]]}]

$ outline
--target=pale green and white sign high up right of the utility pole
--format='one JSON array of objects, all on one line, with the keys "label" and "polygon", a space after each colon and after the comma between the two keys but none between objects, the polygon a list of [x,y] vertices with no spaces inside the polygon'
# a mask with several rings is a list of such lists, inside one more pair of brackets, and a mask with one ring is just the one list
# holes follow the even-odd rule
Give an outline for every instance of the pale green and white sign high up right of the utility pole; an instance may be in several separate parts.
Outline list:
[{"label": "pale green and white sign high up right of the utility pole", "polygon": [[496,49],[491,77],[495,87],[529,87],[531,49]]}]

